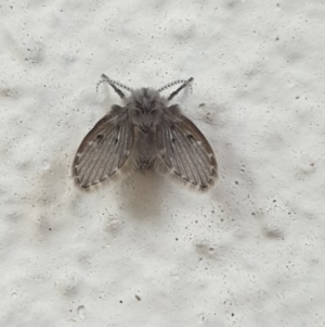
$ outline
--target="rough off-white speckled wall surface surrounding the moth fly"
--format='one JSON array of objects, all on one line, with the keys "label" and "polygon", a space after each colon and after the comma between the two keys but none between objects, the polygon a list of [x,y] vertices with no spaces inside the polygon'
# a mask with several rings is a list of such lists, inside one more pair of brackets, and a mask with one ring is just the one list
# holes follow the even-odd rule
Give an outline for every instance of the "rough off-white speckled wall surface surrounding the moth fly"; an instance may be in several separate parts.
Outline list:
[{"label": "rough off-white speckled wall surface surrounding the moth fly", "polygon": [[[2,1],[0,325],[324,326],[324,1]],[[75,189],[102,73],[195,77],[178,101],[216,151],[211,192],[154,174]]]}]

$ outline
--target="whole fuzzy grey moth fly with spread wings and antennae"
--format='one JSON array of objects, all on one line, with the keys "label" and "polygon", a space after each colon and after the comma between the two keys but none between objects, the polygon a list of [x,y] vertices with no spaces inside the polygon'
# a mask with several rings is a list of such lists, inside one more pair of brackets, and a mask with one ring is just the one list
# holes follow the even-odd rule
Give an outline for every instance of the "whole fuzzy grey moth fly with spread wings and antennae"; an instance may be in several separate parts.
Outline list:
[{"label": "whole fuzzy grey moth fly with spread wings and antennae", "polygon": [[[192,81],[133,90],[103,74],[99,85],[109,84],[125,106],[114,104],[82,140],[73,163],[77,186],[87,190],[135,169],[154,169],[200,191],[211,187],[218,177],[212,148],[178,104],[169,105]],[[182,85],[168,98],[160,95],[177,84]]]}]

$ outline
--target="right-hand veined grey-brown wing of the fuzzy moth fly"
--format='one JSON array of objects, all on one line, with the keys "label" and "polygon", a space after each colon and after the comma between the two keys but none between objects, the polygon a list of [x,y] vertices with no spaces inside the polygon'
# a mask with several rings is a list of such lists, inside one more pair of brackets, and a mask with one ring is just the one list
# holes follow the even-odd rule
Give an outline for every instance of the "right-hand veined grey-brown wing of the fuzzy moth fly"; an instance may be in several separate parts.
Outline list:
[{"label": "right-hand veined grey-brown wing of the fuzzy moth fly", "polygon": [[185,116],[157,125],[157,149],[167,169],[185,183],[203,191],[214,184],[218,176],[213,150]]}]

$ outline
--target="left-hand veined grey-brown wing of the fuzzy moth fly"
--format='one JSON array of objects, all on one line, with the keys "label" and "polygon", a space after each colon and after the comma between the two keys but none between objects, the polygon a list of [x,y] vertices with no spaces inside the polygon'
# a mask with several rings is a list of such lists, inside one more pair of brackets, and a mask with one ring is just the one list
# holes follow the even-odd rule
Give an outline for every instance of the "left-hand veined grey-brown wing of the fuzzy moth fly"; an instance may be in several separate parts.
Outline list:
[{"label": "left-hand veined grey-brown wing of the fuzzy moth fly", "polygon": [[73,163],[76,184],[88,189],[113,177],[126,164],[132,146],[133,126],[127,111],[116,105],[82,140]]}]

